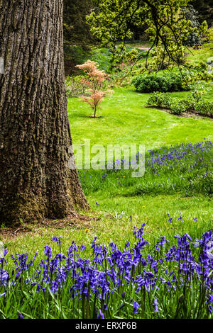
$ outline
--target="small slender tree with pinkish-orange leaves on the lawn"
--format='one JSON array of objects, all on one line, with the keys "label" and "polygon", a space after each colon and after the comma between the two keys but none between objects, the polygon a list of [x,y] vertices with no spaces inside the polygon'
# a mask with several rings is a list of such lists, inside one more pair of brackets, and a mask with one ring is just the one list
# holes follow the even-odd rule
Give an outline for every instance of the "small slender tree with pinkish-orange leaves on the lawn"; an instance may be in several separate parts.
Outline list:
[{"label": "small slender tree with pinkish-orange leaves on the lawn", "polygon": [[97,118],[97,108],[100,107],[104,96],[113,92],[111,90],[102,90],[107,79],[107,74],[99,70],[97,63],[91,60],[87,60],[84,64],[77,64],[76,67],[87,73],[87,77],[82,79],[82,83],[88,87],[87,92],[89,92],[89,96],[82,96],[82,101],[89,103],[89,106],[94,111],[93,118]]}]

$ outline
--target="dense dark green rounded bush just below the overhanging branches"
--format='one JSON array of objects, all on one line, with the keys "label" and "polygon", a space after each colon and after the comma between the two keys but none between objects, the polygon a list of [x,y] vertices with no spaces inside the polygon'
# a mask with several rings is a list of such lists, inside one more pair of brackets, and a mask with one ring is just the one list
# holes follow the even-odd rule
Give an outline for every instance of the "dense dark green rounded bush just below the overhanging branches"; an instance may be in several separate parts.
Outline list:
[{"label": "dense dark green rounded bush just below the overhanging branches", "polygon": [[181,74],[174,73],[139,75],[131,82],[136,91],[142,93],[187,91],[191,89],[191,86],[185,86],[183,83]]}]

